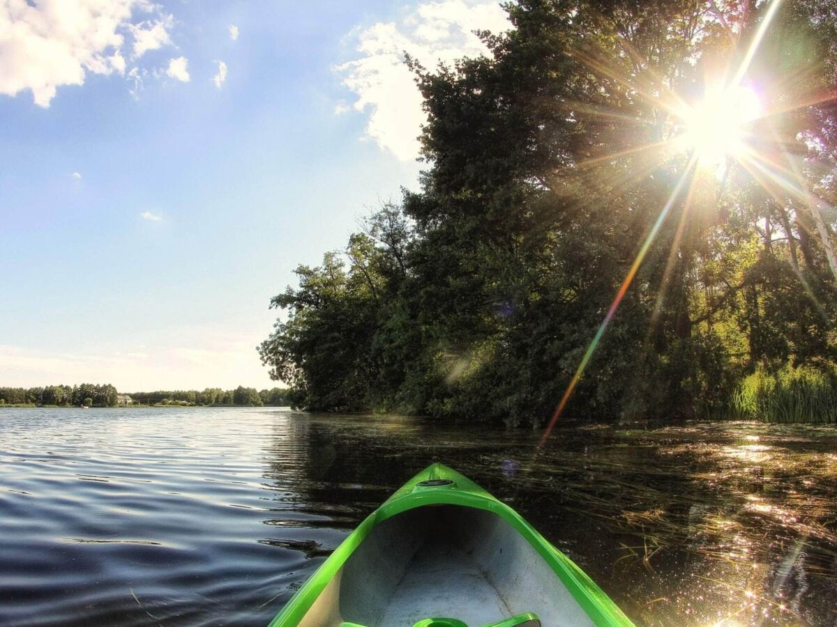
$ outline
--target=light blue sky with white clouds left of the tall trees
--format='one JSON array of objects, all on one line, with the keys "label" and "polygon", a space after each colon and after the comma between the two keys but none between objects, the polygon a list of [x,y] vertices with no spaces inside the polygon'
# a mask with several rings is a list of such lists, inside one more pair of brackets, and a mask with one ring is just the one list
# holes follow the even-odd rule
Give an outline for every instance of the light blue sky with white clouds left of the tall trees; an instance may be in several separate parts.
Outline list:
[{"label": "light blue sky with white clouds left of the tall trees", "polygon": [[0,8],[0,385],[275,385],[270,297],[416,185],[401,51],[479,54],[503,13],[101,4]]}]

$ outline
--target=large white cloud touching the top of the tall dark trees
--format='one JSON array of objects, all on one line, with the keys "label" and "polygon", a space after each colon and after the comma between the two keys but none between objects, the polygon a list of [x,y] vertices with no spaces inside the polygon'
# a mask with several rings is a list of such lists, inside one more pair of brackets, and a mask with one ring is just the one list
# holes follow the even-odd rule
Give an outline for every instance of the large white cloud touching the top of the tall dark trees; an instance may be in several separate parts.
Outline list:
[{"label": "large white cloud touching the top of the tall dark trees", "polygon": [[418,156],[420,126],[427,116],[403,53],[426,68],[439,61],[453,64],[487,52],[472,31],[501,33],[509,26],[506,12],[494,0],[440,0],[420,3],[398,22],[379,22],[360,31],[360,58],[338,65],[336,71],[357,95],[354,108],[369,115],[367,135],[398,159]]}]

